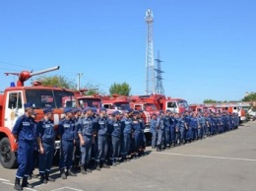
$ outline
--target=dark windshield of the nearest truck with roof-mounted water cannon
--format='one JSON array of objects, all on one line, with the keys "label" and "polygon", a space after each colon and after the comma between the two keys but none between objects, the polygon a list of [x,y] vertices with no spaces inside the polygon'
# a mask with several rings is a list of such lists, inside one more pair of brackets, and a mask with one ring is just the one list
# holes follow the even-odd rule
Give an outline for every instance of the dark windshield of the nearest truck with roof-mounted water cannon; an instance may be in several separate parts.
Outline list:
[{"label": "dark windshield of the nearest truck with roof-mounted water cannon", "polygon": [[27,102],[32,102],[35,108],[44,108],[52,106],[53,108],[62,108],[66,106],[65,99],[74,99],[74,93],[58,90],[27,90]]}]

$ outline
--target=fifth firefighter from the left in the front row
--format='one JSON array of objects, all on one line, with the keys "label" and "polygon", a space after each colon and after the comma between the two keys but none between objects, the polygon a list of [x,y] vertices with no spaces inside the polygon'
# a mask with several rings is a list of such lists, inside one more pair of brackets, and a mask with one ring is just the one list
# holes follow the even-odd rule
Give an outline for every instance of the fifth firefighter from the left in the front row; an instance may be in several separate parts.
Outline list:
[{"label": "fifth firefighter from the left in the front row", "polygon": [[100,167],[109,168],[105,163],[105,157],[107,154],[107,129],[108,129],[108,117],[106,115],[106,108],[101,107],[99,109],[99,116],[96,117],[97,127],[97,153],[96,153],[96,169],[100,170]]}]

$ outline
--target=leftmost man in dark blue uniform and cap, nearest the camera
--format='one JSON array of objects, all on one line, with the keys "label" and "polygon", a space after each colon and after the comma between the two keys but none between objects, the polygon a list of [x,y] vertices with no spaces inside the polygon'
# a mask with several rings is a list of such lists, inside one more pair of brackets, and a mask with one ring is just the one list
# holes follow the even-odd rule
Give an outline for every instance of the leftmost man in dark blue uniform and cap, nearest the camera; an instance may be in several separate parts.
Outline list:
[{"label": "leftmost man in dark blue uniform and cap, nearest the camera", "polygon": [[[18,164],[19,168],[16,173],[15,186],[16,190],[23,190],[23,187],[32,188],[28,182],[28,177],[32,170],[32,154],[34,142],[34,120],[32,119],[32,103],[24,104],[25,114],[20,116],[13,128],[12,134],[18,141]],[[21,179],[23,179],[21,185]]]}]

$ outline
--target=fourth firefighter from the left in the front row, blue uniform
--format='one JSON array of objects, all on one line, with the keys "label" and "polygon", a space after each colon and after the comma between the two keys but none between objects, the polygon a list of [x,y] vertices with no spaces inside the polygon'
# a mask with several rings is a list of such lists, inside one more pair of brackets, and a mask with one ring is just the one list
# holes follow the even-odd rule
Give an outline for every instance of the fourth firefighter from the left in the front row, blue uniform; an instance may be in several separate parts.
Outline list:
[{"label": "fourth firefighter from the left in the front row, blue uniform", "polygon": [[89,168],[89,162],[92,155],[92,144],[94,138],[94,118],[91,107],[86,107],[83,112],[84,117],[81,117],[78,124],[78,136],[80,139],[81,148],[81,172],[87,174],[92,172]]}]

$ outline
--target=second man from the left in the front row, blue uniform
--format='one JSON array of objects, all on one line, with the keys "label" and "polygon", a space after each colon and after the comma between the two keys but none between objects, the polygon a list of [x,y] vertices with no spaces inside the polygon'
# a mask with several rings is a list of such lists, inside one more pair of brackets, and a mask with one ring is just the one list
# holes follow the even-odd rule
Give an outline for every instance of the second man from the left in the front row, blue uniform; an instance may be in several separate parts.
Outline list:
[{"label": "second man from the left in the front row, blue uniform", "polygon": [[37,124],[37,144],[39,148],[39,174],[40,182],[54,182],[55,180],[49,177],[52,159],[54,155],[55,131],[52,116],[52,108],[43,109],[44,117]]}]

